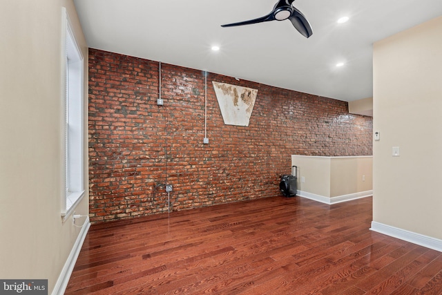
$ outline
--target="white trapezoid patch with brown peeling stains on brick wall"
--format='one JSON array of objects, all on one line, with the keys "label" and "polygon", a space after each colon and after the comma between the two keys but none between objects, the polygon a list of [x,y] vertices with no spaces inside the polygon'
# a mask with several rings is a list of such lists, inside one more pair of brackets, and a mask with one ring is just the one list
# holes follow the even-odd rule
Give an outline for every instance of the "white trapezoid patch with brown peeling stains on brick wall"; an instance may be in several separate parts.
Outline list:
[{"label": "white trapezoid patch with brown peeling stains on brick wall", "polygon": [[258,89],[213,82],[222,119],[226,125],[249,126]]}]

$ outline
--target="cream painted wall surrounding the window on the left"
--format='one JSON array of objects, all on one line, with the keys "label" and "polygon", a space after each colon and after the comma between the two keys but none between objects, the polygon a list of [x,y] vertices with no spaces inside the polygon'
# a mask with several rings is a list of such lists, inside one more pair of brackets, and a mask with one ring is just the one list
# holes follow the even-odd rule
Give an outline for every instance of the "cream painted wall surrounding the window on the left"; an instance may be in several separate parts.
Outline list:
[{"label": "cream painted wall surrounding the window on the left", "polygon": [[[80,229],[61,219],[64,196],[62,7],[84,55],[87,159],[88,48],[70,0],[2,1],[0,9],[0,278],[55,287]],[[88,183],[84,163],[84,182]],[[88,193],[76,209],[88,215]]]}]

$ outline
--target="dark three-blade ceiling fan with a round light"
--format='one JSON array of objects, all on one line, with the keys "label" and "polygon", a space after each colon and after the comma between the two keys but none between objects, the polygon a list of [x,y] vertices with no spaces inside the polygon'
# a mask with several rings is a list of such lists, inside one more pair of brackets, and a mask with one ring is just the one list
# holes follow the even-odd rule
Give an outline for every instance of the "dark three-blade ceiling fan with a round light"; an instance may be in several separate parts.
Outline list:
[{"label": "dark three-blade ceiling fan with a round light", "polygon": [[279,0],[275,4],[273,10],[264,17],[258,17],[258,19],[251,19],[249,21],[240,21],[239,23],[228,23],[222,25],[223,28],[249,25],[251,23],[262,23],[264,21],[284,21],[289,19],[293,26],[301,33],[302,36],[308,38],[313,35],[309,21],[302,13],[291,5],[295,0]]}]

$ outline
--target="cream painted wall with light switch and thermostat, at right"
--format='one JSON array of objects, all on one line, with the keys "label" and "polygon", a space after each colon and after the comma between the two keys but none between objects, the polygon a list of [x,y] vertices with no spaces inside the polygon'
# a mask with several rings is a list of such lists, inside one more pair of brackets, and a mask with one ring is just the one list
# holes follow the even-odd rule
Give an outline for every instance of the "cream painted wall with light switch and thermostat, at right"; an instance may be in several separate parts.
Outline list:
[{"label": "cream painted wall with light switch and thermostat, at right", "polygon": [[374,131],[374,222],[442,239],[442,17],[374,44]]}]

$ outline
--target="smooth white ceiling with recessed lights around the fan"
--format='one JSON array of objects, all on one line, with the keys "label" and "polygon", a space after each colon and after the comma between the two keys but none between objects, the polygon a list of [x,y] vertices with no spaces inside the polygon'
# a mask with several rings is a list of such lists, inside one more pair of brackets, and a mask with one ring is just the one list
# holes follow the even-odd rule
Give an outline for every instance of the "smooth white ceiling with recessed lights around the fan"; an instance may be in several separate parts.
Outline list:
[{"label": "smooth white ceiling with recessed lights around the fan", "polygon": [[277,0],[74,2],[90,48],[347,102],[372,96],[374,41],[442,15],[441,0],[296,0],[307,39],[288,19],[220,26],[267,15]]}]

